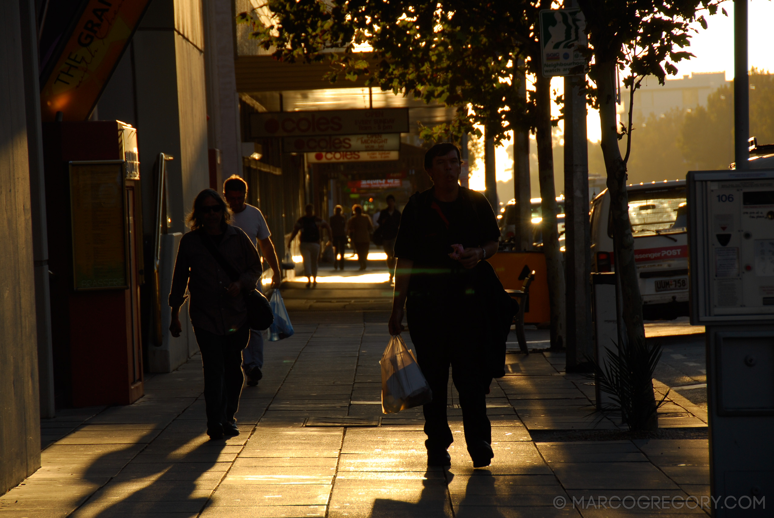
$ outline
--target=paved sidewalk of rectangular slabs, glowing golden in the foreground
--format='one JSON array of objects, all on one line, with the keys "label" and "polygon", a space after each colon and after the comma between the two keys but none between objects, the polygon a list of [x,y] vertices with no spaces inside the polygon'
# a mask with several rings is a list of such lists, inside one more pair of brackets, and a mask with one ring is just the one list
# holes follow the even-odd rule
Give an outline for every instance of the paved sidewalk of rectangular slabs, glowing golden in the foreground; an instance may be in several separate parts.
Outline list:
[{"label": "paved sidewalk of rectangular slabs, glowing golden in the foreground", "polygon": [[[661,503],[707,495],[707,440],[588,440],[620,427],[593,413],[594,386],[561,372],[564,358],[550,352],[509,355],[508,375],[492,384],[490,468],[472,468],[453,389],[451,468],[426,468],[421,410],[381,414],[387,316],[292,312],[296,334],[266,344],[264,379],[245,387],[241,434],[228,441],[204,434],[198,355],[149,377],[133,405],[60,413],[43,424],[54,441],[43,468],[0,497],[0,518],[702,514]],[[705,426],[686,406],[668,403],[662,426]],[[599,505],[627,495],[646,509]],[[581,497],[585,508],[573,509]]]}]

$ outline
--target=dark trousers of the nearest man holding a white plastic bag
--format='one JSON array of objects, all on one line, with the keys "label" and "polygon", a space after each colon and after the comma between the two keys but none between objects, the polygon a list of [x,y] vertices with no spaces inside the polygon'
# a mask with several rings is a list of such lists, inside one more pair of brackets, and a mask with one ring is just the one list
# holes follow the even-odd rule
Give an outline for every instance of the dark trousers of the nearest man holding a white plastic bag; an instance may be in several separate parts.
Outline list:
[{"label": "dark trousers of the nearest man holding a white plastic bag", "polygon": [[473,338],[467,333],[451,331],[458,328],[459,321],[453,325],[421,320],[417,321],[409,313],[409,333],[416,361],[433,390],[433,400],[423,407],[425,446],[428,450],[446,450],[454,442],[446,413],[451,367],[451,379],[460,394],[467,451],[477,456],[481,441],[491,444],[491,423],[486,415],[486,390],[491,378],[483,373],[483,355],[478,354]]}]

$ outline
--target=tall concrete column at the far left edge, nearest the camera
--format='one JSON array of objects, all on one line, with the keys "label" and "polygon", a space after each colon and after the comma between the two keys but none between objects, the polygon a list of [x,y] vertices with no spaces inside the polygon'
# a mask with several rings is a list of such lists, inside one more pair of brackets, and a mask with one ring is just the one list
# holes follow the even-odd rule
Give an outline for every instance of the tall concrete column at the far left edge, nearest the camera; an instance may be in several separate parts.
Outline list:
[{"label": "tall concrete column at the far left edge, nearest the camera", "polygon": [[0,494],[40,467],[29,149],[19,2],[0,2]]}]

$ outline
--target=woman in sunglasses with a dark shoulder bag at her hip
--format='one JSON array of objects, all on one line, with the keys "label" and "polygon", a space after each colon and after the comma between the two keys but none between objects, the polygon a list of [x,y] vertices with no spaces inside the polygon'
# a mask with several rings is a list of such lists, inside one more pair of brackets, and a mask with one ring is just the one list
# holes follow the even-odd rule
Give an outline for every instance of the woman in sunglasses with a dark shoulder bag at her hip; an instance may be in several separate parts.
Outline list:
[{"label": "woman in sunglasses with a dark shoulder bag at her hip", "polygon": [[[244,294],[255,290],[261,263],[252,241],[229,225],[231,211],[221,194],[202,190],[187,218],[190,232],[180,239],[170,292],[170,332],[179,337],[180,306],[190,293],[188,314],[194,326],[204,369],[207,435],[221,439],[238,435],[234,414],[242,384],[241,351],[250,338]],[[232,281],[215,254],[240,273]]]}]

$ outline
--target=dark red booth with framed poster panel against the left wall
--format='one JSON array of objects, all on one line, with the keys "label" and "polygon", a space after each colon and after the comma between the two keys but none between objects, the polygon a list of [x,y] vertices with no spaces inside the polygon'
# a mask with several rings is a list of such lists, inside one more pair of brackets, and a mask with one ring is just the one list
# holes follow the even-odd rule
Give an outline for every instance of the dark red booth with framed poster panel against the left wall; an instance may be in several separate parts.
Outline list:
[{"label": "dark red booth with framed poster panel against the left wall", "polygon": [[143,395],[137,132],[47,122],[43,149],[57,406],[132,403]]}]

